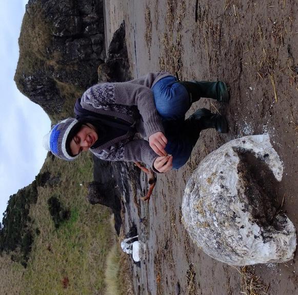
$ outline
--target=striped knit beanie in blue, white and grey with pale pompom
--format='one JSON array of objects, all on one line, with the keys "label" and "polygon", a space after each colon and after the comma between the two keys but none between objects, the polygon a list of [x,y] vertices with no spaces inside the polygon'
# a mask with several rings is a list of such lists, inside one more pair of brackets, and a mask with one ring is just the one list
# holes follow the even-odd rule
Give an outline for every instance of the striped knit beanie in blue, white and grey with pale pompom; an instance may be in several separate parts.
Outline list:
[{"label": "striped knit beanie in blue, white and grey with pale pompom", "polygon": [[76,119],[68,118],[56,124],[51,131],[44,136],[44,148],[51,151],[60,159],[66,161],[74,160],[77,155],[72,156],[67,152],[66,141],[70,131],[77,123],[78,121]]}]

